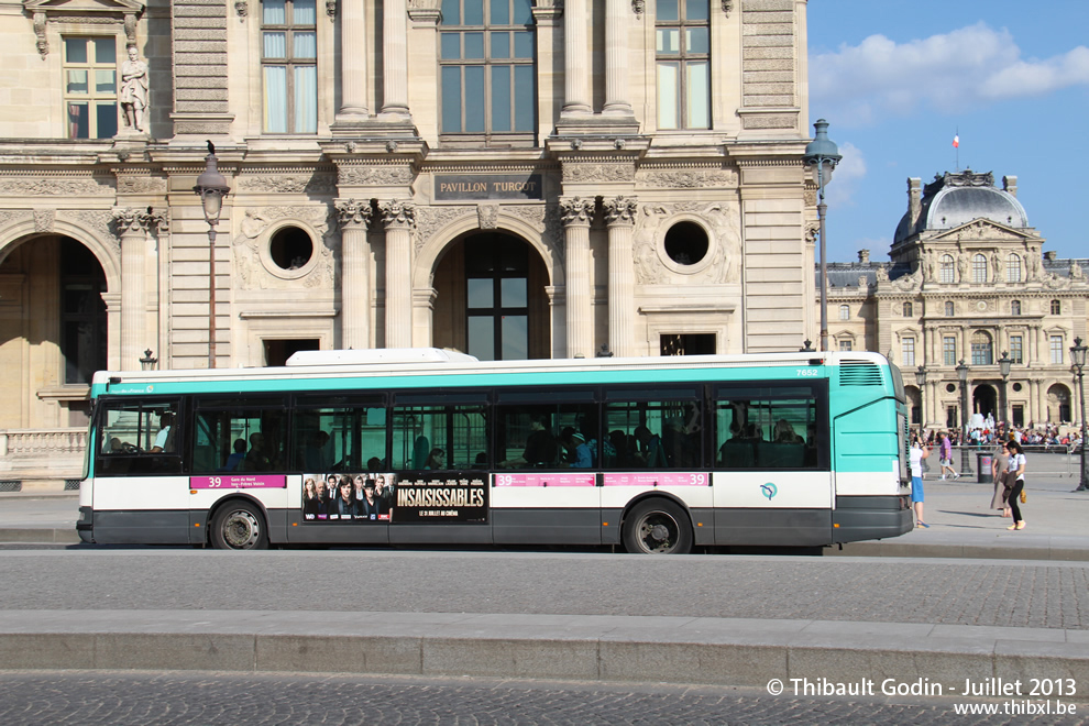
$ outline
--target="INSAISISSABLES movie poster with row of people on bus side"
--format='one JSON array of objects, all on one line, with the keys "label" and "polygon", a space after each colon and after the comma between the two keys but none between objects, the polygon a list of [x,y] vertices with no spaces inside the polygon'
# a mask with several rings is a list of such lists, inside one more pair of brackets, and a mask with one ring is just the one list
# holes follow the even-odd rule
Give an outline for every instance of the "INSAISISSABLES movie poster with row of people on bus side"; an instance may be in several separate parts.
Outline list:
[{"label": "INSAISISSABLES movie poster with row of people on bus side", "polygon": [[479,472],[463,475],[331,473],[302,475],[306,522],[483,522],[487,486]]}]

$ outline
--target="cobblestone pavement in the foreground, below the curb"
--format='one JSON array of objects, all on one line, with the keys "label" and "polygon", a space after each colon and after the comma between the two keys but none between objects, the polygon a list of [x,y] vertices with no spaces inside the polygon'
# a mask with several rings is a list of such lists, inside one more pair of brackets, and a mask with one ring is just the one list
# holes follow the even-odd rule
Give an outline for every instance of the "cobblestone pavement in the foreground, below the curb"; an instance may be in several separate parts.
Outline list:
[{"label": "cobblestone pavement in the foreground, below the curb", "polygon": [[[0,671],[0,723],[55,724],[1086,724],[959,715],[994,700],[799,698],[752,689],[206,672]],[[1055,700],[1052,700],[1055,708]],[[1065,702],[1066,706],[1070,702]]]}]

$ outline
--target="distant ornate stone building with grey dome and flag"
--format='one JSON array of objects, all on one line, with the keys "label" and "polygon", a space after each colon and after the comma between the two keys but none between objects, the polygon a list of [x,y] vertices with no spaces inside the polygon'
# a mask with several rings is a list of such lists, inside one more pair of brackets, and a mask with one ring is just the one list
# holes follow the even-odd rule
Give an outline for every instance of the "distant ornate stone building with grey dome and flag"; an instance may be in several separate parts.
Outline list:
[{"label": "distant ornate stone building with grey dome and flag", "polygon": [[[1056,258],[1044,242],[1018,201],[1016,177],[1001,188],[971,170],[925,186],[909,179],[891,263],[864,251],[857,263],[829,266],[831,346],[882,352],[900,365],[917,426],[956,429],[964,410],[1019,427],[1080,425],[1069,350],[1089,340],[1089,260]],[[964,396],[960,361],[969,367]]]}]

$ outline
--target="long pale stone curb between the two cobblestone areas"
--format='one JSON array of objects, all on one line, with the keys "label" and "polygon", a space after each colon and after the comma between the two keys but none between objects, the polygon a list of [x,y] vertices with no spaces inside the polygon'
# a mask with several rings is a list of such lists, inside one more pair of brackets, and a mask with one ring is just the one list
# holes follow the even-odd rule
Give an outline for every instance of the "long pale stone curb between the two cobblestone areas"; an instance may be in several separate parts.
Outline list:
[{"label": "long pale stone curb between the two cobblestone areas", "polygon": [[356,673],[759,688],[778,680],[788,694],[792,679],[799,680],[794,685],[802,679],[872,680],[873,695],[882,695],[883,679],[943,689],[916,695],[958,695],[966,679],[1089,682],[1089,632],[1047,628],[267,610],[8,610],[0,623],[0,663],[10,670]]}]

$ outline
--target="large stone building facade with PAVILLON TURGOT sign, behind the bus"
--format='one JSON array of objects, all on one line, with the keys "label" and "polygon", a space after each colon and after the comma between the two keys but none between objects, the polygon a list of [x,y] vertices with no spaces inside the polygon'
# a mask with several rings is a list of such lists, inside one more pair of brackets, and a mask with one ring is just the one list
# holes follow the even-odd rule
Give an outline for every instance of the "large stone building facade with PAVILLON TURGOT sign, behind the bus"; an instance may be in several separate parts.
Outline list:
[{"label": "large stone building facade with PAVILLON TURGOT sign, behind the bus", "polygon": [[[0,0],[0,480],[74,475],[90,373],[142,360],[796,349],[805,16]],[[217,235],[194,193],[208,141]]]}]

